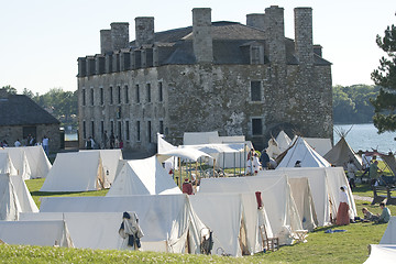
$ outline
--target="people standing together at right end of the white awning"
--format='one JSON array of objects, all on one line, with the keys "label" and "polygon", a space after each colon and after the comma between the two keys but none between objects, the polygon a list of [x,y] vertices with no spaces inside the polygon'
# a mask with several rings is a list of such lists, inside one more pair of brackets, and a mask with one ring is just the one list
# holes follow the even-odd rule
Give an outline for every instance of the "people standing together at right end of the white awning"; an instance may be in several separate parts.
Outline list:
[{"label": "people standing together at right end of the white awning", "polygon": [[258,170],[262,169],[274,169],[277,164],[275,160],[271,158],[266,153],[266,150],[261,152],[258,157],[258,153],[251,148],[248,153],[248,162],[246,162],[246,175],[256,175]]}]

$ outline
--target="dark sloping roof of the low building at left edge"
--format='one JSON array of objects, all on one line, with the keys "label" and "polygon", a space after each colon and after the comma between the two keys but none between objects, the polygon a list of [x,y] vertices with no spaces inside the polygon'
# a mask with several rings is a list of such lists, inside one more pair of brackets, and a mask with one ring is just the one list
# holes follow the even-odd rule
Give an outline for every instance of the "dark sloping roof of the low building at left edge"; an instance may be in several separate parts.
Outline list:
[{"label": "dark sloping roof of the low building at left edge", "polygon": [[58,124],[51,113],[23,95],[0,97],[0,125]]}]

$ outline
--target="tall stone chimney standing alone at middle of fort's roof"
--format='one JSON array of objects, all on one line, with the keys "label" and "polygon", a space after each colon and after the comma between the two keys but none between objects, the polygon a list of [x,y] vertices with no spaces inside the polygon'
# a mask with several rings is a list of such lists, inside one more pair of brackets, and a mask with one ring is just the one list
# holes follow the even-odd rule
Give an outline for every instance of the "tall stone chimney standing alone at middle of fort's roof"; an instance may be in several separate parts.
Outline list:
[{"label": "tall stone chimney standing alone at middle of fort's roof", "polygon": [[213,62],[211,9],[193,9],[193,47],[197,63]]}]

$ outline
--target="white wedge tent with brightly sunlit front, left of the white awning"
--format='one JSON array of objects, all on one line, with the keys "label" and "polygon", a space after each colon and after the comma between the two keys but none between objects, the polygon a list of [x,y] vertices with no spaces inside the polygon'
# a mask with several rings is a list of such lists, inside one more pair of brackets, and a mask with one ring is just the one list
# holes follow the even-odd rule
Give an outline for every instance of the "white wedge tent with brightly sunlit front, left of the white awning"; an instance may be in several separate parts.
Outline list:
[{"label": "white wedge tent with brightly sunlit front, left of the white awning", "polygon": [[125,161],[107,196],[182,194],[156,156]]}]

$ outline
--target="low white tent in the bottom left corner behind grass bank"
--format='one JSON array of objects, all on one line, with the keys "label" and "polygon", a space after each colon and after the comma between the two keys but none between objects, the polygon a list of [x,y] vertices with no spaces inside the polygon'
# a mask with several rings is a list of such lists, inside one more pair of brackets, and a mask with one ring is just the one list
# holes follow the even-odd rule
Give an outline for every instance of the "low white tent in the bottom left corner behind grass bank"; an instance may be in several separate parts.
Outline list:
[{"label": "low white tent in the bottom left corner behind grass bank", "polygon": [[0,221],[0,240],[8,244],[73,248],[64,221]]}]

